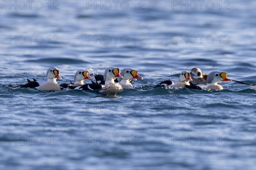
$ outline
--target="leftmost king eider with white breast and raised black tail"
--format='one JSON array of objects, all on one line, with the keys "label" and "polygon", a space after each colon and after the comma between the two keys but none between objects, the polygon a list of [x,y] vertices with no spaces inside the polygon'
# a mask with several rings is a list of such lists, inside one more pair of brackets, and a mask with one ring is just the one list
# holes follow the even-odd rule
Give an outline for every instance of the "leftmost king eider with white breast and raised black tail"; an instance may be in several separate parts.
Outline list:
[{"label": "leftmost king eider with white breast and raised black tail", "polygon": [[37,88],[38,90],[46,90],[46,91],[61,90],[58,82],[56,82],[56,79],[61,79],[61,76],[59,75],[59,70],[57,67],[49,68],[47,71],[46,77],[47,77],[47,81],[38,81],[36,79],[33,79],[34,81],[30,81],[29,79],[27,79],[28,83],[26,83],[25,85],[18,85],[16,87]]}]

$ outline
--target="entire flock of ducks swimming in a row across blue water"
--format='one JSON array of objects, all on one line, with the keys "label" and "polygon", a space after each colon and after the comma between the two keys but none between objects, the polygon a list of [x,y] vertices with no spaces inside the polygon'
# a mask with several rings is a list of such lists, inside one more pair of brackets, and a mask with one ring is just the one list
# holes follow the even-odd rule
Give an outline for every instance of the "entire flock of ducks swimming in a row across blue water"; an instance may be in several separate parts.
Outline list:
[{"label": "entire flock of ducks swimming in a row across blue water", "polygon": [[[48,69],[47,81],[41,81],[33,79],[33,81],[27,79],[27,83],[24,85],[18,85],[15,88],[37,88],[38,90],[45,91],[61,91],[61,90],[83,90],[92,91],[100,90],[102,94],[112,95],[121,93],[124,88],[133,88],[131,80],[137,81],[137,79],[143,79],[138,72],[131,68],[124,68],[120,71],[119,68],[109,67],[105,70],[104,75],[95,75],[95,82],[90,77],[88,71],[78,70],[74,76],[74,83],[62,83],[58,84],[56,79],[61,79],[59,70],[57,67],[51,67]],[[119,80],[117,79],[119,78]],[[91,83],[85,84],[85,80],[90,80]],[[209,74],[203,74],[200,68],[192,68],[191,72],[182,71],[180,73],[177,83],[172,80],[165,80],[157,84],[154,88],[160,87],[172,87],[172,88],[191,88],[198,90],[223,90],[218,82],[238,82],[244,85],[248,85],[251,89],[256,90],[256,84],[250,85],[245,82],[240,82],[227,78],[227,73],[220,71],[213,71]],[[206,84],[204,82],[207,82]]]}]

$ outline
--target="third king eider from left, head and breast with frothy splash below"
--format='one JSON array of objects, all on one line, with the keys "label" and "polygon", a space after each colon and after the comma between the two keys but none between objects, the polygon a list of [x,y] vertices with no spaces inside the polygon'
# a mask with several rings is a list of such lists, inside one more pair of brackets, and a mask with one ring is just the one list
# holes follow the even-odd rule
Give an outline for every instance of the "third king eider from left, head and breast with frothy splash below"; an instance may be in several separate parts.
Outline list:
[{"label": "third king eider from left, head and breast with frothy splash below", "polygon": [[123,91],[122,86],[119,83],[116,83],[114,79],[123,78],[120,75],[120,69],[109,67],[105,70],[104,73],[105,87],[99,91],[102,94],[113,95],[117,93],[121,93]]}]

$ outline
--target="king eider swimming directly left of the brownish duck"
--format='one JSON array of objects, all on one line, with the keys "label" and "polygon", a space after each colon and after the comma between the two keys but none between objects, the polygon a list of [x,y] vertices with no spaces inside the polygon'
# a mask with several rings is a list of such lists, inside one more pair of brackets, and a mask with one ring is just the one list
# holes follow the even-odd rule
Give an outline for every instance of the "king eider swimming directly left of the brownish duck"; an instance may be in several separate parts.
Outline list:
[{"label": "king eider swimming directly left of the brownish duck", "polygon": [[191,85],[189,81],[192,81],[190,77],[190,73],[188,71],[182,71],[179,76],[179,82],[174,84],[172,80],[165,80],[163,82],[160,82],[158,85],[156,85],[154,88],[159,87],[174,87],[174,88],[181,88],[185,86]]}]

